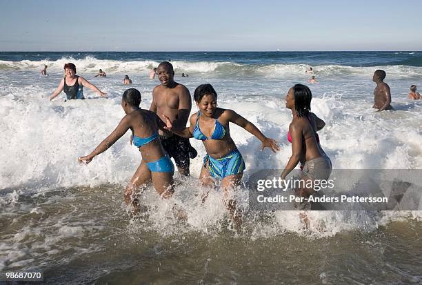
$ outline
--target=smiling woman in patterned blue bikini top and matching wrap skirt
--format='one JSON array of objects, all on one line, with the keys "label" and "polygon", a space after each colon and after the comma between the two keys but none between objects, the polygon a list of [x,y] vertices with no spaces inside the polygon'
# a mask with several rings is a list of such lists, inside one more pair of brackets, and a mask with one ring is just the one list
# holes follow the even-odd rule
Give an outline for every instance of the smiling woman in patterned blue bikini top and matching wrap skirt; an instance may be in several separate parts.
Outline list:
[{"label": "smiling woman in patterned blue bikini top and matching wrap skirt", "polygon": [[233,110],[217,108],[217,92],[210,84],[198,86],[194,92],[194,100],[199,111],[190,117],[188,128],[181,131],[172,130],[171,121],[167,117],[167,126],[164,128],[181,137],[194,137],[203,142],[207,155],[203,159],[199,180],[205,186],[214,186],[213,177],[221,178],[225,204],[235,217],[236,206],[234,201],[228,199],[228,191],[240,185],[245,162],[230,137],[229,123],[237,124],[257,137],[262,142],[261,150],[268,147],[275,152],[279,150],[279,146],[277,141],[265,137],[254,124]]}]

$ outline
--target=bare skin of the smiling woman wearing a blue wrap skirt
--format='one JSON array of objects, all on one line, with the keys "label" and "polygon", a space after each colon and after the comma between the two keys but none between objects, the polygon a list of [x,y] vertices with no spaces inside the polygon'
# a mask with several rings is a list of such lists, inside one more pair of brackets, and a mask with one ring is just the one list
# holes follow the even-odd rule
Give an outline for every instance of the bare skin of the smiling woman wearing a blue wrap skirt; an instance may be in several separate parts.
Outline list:
[{"label": "bare skin of the smiling woman wearing a blue wrap skirt", "polygon": [[[277,141],[274,139],[270,139],[265,137],[262,132],[254,126],[254,124],[250,123],[247,119],[241,117],[233,110],[223,109],[217,107],[217,98],[213,94],[205,94],[201,98],[201,101],[196,102],[197,107],[201,111],[201,116],[199,116],[199,128],[203,135],[208,137],[207,140],[202,141],[203,146],[205,146],[205,150],[215,159],[225,157],[233,150],[235,150],[236,144],[230,137],[230,128],[229,123],[237,124],[241,126],[252,135],[257,137],[261,141],[261,150],[265,147],[270,148],[274,153],[279,150],[279,146]],[[170,118],[163,116],[166,119],[166,127],[168,130],[173,131],[177,135],[181,137],[190,138],[193,137],[194,126],[196,125],[198,113],[195,113],[190,117],[190,126],[185,128],[184,130],[174,130],[172,128],[172,122]],[[223,139],[210,139],[212,132],[214,132],[215,128],[215,120],[218,120],[225,128],[226,134]],[[229,191],[233,190],[241,183],[241,178],[243,173],[239,173],[237,175],[230,175],[223,177],[221,180],[221,189],[224,193],[224,201],[228,210],[232,214],[234,219],[241,219],[240,217],[236,217],[236,202],[233,199],[229,199]],[[208,162],[205,167],[201,168],[201,174],[199,175],[199,180],[203,186],[211,186],[214,187],[214,178],[210,175],[210,170],[208,170]],[[207,197],[208,192],[203,195],[203,200]]]}]

